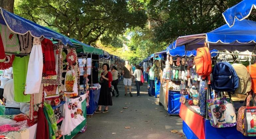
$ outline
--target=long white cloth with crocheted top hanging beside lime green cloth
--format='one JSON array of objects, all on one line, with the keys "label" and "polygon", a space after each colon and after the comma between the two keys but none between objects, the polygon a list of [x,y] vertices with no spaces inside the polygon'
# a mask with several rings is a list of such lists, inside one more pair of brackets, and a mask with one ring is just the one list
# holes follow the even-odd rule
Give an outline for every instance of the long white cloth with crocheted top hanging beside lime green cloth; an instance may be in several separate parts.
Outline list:
[{"label": "long white cloth with crocheted top hanging beside lime green cloth", "polygon": [[35,94],[39,92],[43,72],[43,53],[39,38],[34,38],[31,50],[28,74],[26,79],[25,94]]}]

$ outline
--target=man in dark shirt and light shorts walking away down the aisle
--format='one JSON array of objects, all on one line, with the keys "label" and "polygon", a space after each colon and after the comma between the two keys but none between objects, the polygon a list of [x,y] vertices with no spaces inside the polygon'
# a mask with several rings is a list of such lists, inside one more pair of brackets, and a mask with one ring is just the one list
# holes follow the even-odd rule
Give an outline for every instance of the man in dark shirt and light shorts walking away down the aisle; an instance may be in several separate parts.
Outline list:
[{"label": "man in dark shirt and light shorts walking away down the aisle", "polygon": [[125,87],[125,96],[128,96],[127,94],[127,86],[129,86],[129,94],[132,97],[132,67],[129,65],[129,61],[125,61],[125,66],[123,67],[123,75],[124,75],[124,87]]}]

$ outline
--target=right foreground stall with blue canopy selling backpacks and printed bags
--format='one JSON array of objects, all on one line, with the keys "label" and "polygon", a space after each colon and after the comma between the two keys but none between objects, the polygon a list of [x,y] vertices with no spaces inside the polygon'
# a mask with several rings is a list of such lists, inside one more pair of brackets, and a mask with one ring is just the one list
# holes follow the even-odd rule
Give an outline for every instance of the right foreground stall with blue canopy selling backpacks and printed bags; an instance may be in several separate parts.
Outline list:
[{"label": "right foreground stall with blue canopy selling backpacks and printed bags", "polygon": [[[179,37],[174,42],[173,48],[175,49],[176,47],[178,48],[182,45],[186,46],[185,50],[192,50],[198,48],[197,53],[199,52],[200,56],[204,56],[201,53],[203,51],[207,53],[207,55],[209,55],[209,49],[212,50],[214,48],[218,49],[219,51],[227,50],[234,52],[238,50],[239,52],[243,52],[248,50],[249,52],[253,52],[255,50],[255,29],[256,23],[253,21],[236,20],[235,24],[231,28],[229,28],[229,26],[225,24],[205,34]],[[200,52],[200,50],[203,51]],[[210,65],[209,69],[212,70],[212,72],[203,73],[202,70],[196,70],[196,73],[201,74],[198,92],[200,101],[198,102],[199,106],[193,105],[193,100],[185,100],[184,102],[186,103],[181,105],[180,116],[184,121],[184,133],[187,136],[187,138],[212,138],[212,133],[214,133],[214,138],[253,138],[250,136],[256,135],[256,131],[254,130],[253,126],[253,116],[256,114],[253,113],[252,109],[254,107],[251,107],[252,105],[251,103],[249,103],[249,100],[254,94],[253,92],[250,92],[251,88],[254,89],[254,70],[252,70],[254,64],[251,63],[252,57],[256,55],[253,55],[251,53],[240,54],[230,52],[214,53],[233,56],[247,56],[249,66],[246,69],[246,67],[242,64],[231,63],[231,65],[228,62],[221,62],[223,60],[225,61],[225,58],[221,58],[219,59],[218,63],[214,65],[213,68],[211,68],[211,62],[208,62],[208,65]],[[196,58],[198,57],[195,57],[195,59]],[[204,59],[204,62],[195,60],[195,67],[199,67],[200,64],[206,65],[207,60]],[[244,70],[238,70],[238,68],[236,67],[237,65],[243,68]],[[205,71],[207,71],[207,69]],[[212,79],[209,78],[209,73],[212,73]],[[226,76],[228,75],[227,73],[233,75]],[[250,81],[250,75],[252,77],[252,85]],[[241,86],[241,78],[243,77],[246,77],[246,80],[244,78],[244,82],[246,82],[247,84],[247,86],[244,87]],[[241,87],[243,88],[242,90]],[[239,88],[240,90],[237,90]],[[212,90],[214,90],[215,92],[214,97],[209,95],[209,92],[211,92]],[[246,107],[237,107],[234,104],[234,97],[233,95],[231,95],[231,93],[245,96],[247,95],[249,99],[247,99],[248,101],[246,103]],[[229,97],[226,97],[225,94]],[[248,109],[245,112],[243,111],[243,108],[251,109]],[[235,113],[237,112],[238,109],[239,113],[236,117]],[[245,112],[246,115],[242,116],[241,112]],[[232,134],[224,135],[223,132]]]}]

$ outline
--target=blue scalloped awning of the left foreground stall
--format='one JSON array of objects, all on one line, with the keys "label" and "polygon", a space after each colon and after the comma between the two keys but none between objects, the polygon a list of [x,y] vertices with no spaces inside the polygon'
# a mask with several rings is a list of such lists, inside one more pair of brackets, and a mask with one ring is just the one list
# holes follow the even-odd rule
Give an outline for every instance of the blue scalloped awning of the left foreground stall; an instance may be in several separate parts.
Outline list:
[{"label": "blue scalloped awning of the left foreground stall", "polygon": [[0,8],[0,9],[1,9],[1,14],[2,14],[2,16],[0,16],[0,22],[2,24],[6,24],[8,26],[8,28],[16,34],[24,35],[24,34],[27,34],[28,32],[30,32],[30,34],[33,37],[40,38],[40,37],[44,36],[47,39],[60,40],[60,41],[62,41],[62,43],[64,45],[67,45],[67,43],[71,46],[73,45],[69,41],[68,37],[57,34],[56,32],[54,32],[46,27],[43,27],[34,22],[31,22],[22,17],[19,17],[13,13],[10,13],[10,12],[4,10],[3,8]]}]

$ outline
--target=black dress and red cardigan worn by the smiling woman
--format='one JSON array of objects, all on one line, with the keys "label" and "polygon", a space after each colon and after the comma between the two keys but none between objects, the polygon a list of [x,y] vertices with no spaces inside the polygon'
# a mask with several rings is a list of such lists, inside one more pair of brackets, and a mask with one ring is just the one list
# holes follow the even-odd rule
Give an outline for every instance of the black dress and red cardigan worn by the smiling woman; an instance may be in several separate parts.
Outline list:
[{"label": "black dress and red cardigan worn by the smiling woman", "polygon": [[[104,72],[101,73],[101,75],[103,74]],[[105,77],[108,78],[108,81],[106,79],[103,79],[103,82],[101,83],[98,105],[112,106],[112,98],[110,92],[112,74],[108,71]]]}]

